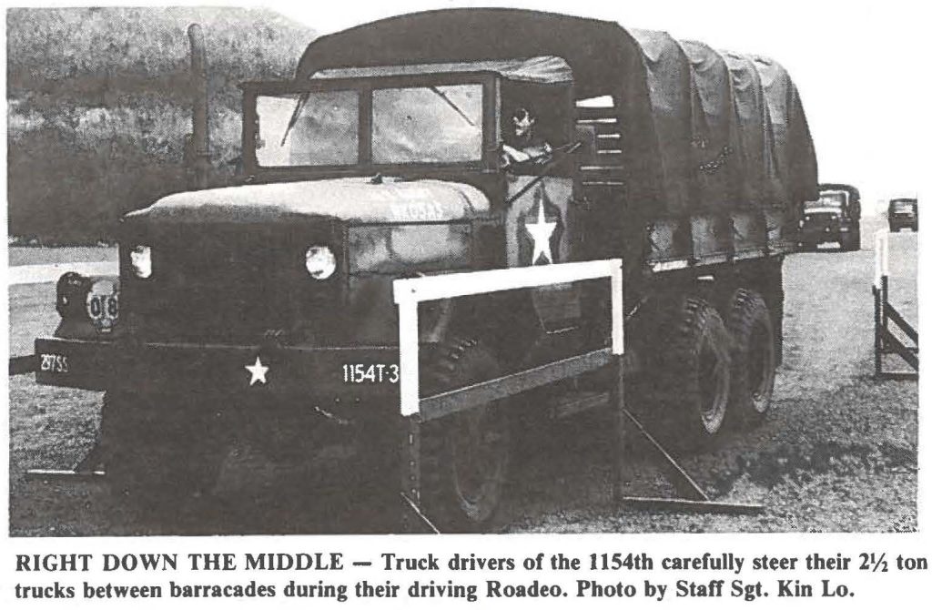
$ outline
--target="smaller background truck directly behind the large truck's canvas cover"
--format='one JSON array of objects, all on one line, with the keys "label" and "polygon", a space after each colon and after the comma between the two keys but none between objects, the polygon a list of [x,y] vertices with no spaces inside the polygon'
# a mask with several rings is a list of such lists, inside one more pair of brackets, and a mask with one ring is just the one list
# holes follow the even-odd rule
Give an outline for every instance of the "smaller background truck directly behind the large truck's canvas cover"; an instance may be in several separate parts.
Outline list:
[{"label": "smaller background truck directly behind the large truck's canvas cover", "polygon": [[838,243],[843,252],[861,247],[861,196],[851,185],[819,185],[818,199],[802,204],[802,248],[815,250],[829,242]]}]

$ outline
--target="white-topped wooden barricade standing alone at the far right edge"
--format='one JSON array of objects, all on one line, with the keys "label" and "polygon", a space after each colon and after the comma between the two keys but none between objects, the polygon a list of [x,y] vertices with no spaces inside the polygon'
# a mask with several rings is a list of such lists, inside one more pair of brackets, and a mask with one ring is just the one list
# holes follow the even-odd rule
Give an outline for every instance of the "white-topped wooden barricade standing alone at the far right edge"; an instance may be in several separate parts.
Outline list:
[{"label": "white-topped wooden barricade standing alone at the far right edge", "polygon": [[[890,304],[890,233],[874,233],[874,377],[876,379],[913,380],[919,377],[919,333]],[[890,323],[906,335],[913,345],[906,345],[891,331]],[[897,354],[912,370],[884,370],[884,355]]]}]

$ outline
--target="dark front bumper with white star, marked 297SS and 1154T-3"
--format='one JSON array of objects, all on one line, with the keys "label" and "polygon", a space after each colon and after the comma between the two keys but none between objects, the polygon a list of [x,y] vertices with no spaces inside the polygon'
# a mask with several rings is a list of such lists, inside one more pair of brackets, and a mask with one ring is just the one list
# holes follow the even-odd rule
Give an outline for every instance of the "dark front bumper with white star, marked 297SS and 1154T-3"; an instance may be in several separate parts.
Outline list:
[{"label": "dark front bumper with white star, marked 297SS and 1154T-3", "polygon": [[[35,381],[87,390],[313,398],[332,404],[398,395],[396,347],[295,347],[35,340]],[[348,368],[349,367],[349,368]]]}]

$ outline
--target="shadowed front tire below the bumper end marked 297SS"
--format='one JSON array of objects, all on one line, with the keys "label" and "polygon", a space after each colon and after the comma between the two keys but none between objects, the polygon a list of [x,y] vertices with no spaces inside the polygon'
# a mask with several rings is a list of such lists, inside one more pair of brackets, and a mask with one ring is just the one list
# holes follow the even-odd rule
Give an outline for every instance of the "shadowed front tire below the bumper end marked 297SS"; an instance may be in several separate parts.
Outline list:
[{"label": "shadowed front tire below the bumper end marked 297SS", "polygon": [[212,490],[229,449],[222,411],[168,396],[110,391],[101,443],[111,490],[131,504],[177,506]]}]

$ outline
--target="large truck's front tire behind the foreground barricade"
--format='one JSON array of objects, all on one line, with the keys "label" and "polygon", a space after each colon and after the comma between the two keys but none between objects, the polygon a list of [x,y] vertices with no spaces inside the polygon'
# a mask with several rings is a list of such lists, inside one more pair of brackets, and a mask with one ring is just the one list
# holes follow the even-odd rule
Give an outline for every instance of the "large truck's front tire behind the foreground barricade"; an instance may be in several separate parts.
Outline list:
[{"label": "large truck's front tire behind the foreground barricade", "polygon": [[[425,395],[500,375],[474,340],[442,344],[427,367]],[[509,413],[502,401],[460,411],[421,428],[421,504],[442,532],[487,527],[504,495],[511,461]]]}]

